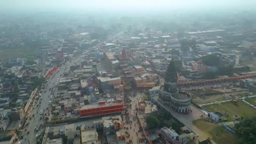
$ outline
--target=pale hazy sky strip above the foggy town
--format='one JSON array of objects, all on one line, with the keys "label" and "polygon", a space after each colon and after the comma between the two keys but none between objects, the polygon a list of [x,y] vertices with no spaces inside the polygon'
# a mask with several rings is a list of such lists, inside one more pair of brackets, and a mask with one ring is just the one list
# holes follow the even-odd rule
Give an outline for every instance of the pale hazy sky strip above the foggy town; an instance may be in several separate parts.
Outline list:
[{"label": "pale hazy sky strip above the foggy town", "polygon": [[0,7],[48,9],[172,9],[177,7],[255,6],[256,0],[1,0]]}]

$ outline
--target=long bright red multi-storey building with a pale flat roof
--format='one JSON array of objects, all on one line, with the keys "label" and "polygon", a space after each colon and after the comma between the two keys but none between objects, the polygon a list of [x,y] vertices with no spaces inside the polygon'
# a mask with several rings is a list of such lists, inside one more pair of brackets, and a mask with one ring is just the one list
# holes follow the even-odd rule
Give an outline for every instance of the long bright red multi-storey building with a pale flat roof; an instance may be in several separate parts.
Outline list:
[{"label": "long bright red multi-storey building with a pale flat roof", "polygon": [[85,105],[81,107],[79,114],[81,117],[90,117],[121,113],[123,110],[124,105],[122,102],[106,103],[101,101],[99,104]]}]

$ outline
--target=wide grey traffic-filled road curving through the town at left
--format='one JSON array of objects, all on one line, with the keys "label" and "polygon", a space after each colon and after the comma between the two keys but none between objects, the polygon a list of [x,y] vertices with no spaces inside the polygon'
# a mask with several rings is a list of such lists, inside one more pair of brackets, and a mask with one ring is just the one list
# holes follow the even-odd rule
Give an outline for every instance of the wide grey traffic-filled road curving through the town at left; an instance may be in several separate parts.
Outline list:
[{"label": "wide grey traffic-filled road curving through the town at left", "polygon": [[[119,36],[121,35],[121,33],[123,33],[122,31],[116,35],[111,35],[108,37],[108,39],[113,38],[114,36]],[[104,41],[105,43],[106,41]],[[98,47],[100,44],[95,45],[95,47]],[[84,53],[87,53],[89,50],[91,50],[92,47],[88,50],[85,50]],[[42,92],[42,100],[41,100],[41,105],[39,105],[39,101],[36,101],[37,104],[39,105],[38,107],[36,107],[30,112],[30,117],[32,117],[32,115],[34,114],[34,117],[32,117],[32,119],[29,121],[29,125],[28,127],[26,127],[27,130],[29,130],[29,134],[27,134],[27,132],[25,132],[25,136],[24,139],[26,138],[26,140],[24,141],[24,143],[28,143],[28,144],[34,144],[36,143],[36,134],[41,134],[42,131],[44,130],[42,127],[41,129],[38,130],[38,132],[35,131],[35,127],[39,127],[40,124],[44,124],[45,119],[44,119],[44,115],[40,115],[40,111],[41,110],[45,110],[45,113],[50,113],[50,111],[48,111],[49,108],[49,101],[51,100],[51,93],[52,93],[52,89],[55,88],[55,83],[57,82],[57,79],[60,78],[60,75],[62,75],[65,72],[65,69],[68,70],[70,66],[74,65],[74,63],[78,62],[79,59],[83,58],[83,54],[81,53],[81,55],[79,55],[79,57],[73,57],[71,60],[67,61],[66,63],[64,63],[61,67],[59,67],[58,72],[56,71],[50,78],[49,81],[46,83],[45,86],[45,90]],[[51,88],[51,90],[50,90]],[[48,110],[46,110],[46,108],[48,108]],[[40,119],[40,117],[42,116],[42,119]]]}]

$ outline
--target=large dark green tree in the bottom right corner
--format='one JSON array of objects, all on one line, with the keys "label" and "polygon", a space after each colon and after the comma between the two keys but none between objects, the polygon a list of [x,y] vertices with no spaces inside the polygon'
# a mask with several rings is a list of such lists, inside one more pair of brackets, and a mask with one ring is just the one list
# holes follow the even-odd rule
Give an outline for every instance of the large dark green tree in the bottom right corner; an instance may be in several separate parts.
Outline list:
[{"label": "large dark green tree in the bottom right corner", "polygon": [[256,143],[256,117],[244,118],[235,124],[235,131],[238,135],[238,143]]}]

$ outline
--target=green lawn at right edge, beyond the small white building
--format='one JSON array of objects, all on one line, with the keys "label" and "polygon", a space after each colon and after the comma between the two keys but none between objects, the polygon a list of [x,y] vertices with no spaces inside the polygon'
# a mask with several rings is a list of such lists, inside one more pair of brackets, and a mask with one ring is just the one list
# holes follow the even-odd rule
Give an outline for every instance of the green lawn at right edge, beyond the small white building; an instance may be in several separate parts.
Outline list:
[{"label": "green lawn at right edge, beyond the small white building", "polygon": [[235,103],[233,102],[223,102],[223,103],[216,103],[213,105],[203,106],[203,108],[211,112],[219,111],[223,115],[225,115],[226,113],[225,118],[231,122],[235,120],[233,118],[234,115],[237,115],[240,118],[241,116],[252,117],[256,115],[256,110],[242,101],[238,101],[237,105],[235,105]]}]

